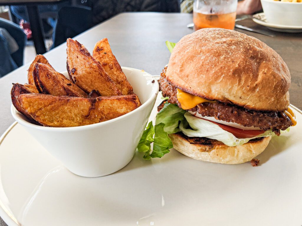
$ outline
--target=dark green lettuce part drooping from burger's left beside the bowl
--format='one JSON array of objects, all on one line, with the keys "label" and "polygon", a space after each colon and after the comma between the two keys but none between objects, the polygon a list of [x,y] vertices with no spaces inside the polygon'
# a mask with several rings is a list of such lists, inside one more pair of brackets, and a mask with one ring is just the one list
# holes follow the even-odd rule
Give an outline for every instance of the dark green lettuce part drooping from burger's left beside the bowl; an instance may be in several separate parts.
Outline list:
[{"label": "dark green lettuce part drooping from burger's left beside the bowl", "polygon": [[[173,144],[168,134],[180,131],[179,122],[185,120],[185,112],[175,104],[165,103],[156,115],[155,126],[153,127],[152,122],[149,122],[137,146],[139,152],[145,153],[144,159],[161,158],[170,152]],[[151,143],[153,143],[152,152]]]}]

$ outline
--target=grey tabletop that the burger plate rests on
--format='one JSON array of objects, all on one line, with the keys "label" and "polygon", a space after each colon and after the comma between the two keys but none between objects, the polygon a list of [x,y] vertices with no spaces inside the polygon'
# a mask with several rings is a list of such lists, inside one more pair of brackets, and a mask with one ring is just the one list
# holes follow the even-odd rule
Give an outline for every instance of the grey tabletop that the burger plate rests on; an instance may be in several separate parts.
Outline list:
[{"label": "grey tabletop that the burger plate rests on", "polygon": [[[191,14],[122,13],[76,36],[75,39],[92,52],[95,43],[107,37],[121,66],[144,69],[150,74],[159,75],[170,57],[165,41],[177,42],[182,36],[191,33],[192,30],[186,27],[191,22]],[[238,24],[267,30],[252,20],[243,20]],[[238,31],[255,36],[281,55],[291,71],[292,84],[289,90],[291,104],[302,109],[301,34],[271,31],[276,34],[273,38],[245,30]],[[57,71],[66,71],[66,43],[47,52],[45,57]],[[14,121],[10,114],[11,83],[26,83],[28,67],[29,64],[24,65],[0,79],[1,134]],[[5,225],[0,223],[0,226]]]}]

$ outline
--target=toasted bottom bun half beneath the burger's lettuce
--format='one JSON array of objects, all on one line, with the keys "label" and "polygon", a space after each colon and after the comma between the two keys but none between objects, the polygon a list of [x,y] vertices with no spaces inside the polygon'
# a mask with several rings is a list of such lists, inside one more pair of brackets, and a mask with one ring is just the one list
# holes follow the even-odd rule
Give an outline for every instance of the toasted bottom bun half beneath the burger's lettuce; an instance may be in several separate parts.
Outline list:
[{"label": "toasted bottom bun half beneath the burger's lettuce", "polygon": [[271,136],[250,140],[240,146],[226,146],[205,137],[187,137],[183,133],[169,134],[174,149],[193,159],[223,164],[249,162],[264,151]]}]

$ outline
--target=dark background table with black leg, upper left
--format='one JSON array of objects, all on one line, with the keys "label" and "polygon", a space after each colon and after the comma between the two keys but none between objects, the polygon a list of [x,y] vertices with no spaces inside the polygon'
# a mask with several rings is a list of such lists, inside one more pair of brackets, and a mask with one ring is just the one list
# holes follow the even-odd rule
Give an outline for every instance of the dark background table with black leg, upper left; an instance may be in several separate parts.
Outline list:
[{"label": "dark background table with black leg, upper left", "polygon": [[46,53],[46,48],[38,5],[61,1],[63,0],[0,0],[0,5],[26,5],[36,53],[44,54]]}]

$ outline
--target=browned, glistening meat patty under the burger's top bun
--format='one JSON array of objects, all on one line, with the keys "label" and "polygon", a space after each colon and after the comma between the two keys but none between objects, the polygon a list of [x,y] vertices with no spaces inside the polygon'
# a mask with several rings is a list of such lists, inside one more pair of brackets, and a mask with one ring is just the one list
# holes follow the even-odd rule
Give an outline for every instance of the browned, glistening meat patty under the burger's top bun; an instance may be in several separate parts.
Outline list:
[{"label": "browned, glistening meat patty under the burger's top bun", "polygon": [[[177,88],[173,86],[165,78],[165,69],[163,70],[159,82],[159,89],[162,96],[169,97],[168,102],[177,104],[181,108],[181,104],[177,99]],[[273,130],[276,135],[280,135],[280,130],[286,130],[292,125],[290,118],[284,112],[277,111],[252,111],[237,105],[223,102],[205,102],[198,104],[196,107],[188,111],[198,112],[202,116],[214,117],[217,120],[226,122],[234,122],[246,127],[260,127],[263,130]]]}]

